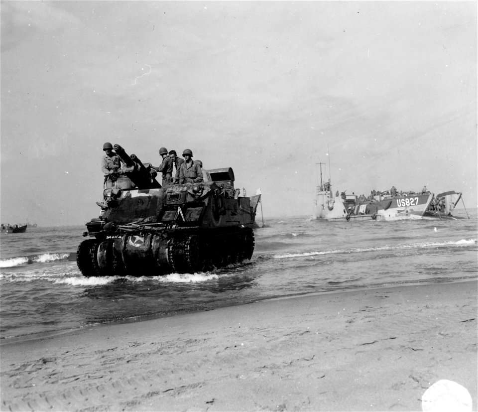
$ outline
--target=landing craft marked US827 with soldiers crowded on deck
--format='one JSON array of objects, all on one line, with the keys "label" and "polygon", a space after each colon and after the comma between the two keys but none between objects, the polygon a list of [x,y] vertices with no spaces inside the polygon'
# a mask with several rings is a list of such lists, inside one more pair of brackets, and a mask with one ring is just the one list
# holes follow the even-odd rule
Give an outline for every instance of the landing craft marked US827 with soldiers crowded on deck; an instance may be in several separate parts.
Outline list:
[{"label": "landing craft marked US827 with soldiers crowded on deck", "polygon": [[[462,198],[461,193],[448,191],[435,196],[429,191],[390,192],[372,191],[368,197],[347,195],[337,191],[334,196],[330,179],[317,186],[312,220],[405,220],[405,219],[461,219],[452,216]],[[463,200],[463,199],[462,199]]]}]

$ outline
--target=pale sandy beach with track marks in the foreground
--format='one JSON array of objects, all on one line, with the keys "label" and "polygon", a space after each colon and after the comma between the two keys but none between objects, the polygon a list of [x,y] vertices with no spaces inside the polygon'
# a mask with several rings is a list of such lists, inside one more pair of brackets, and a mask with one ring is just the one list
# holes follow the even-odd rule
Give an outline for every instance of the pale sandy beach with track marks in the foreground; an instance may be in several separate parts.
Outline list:
[{"label": "pale sandy beach with track marks in the foreground", "polygon": [[477,410],[477,281],[315,294],[0,346],[1,411]]}]

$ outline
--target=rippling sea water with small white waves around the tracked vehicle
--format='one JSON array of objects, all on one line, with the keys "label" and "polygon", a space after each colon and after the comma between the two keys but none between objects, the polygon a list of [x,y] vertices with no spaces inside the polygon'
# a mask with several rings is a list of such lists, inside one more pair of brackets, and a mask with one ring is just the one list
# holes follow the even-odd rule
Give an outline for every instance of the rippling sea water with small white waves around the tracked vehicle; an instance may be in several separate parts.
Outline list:
[{"label": "rippling sea water with small white waves around the tracked vehicle", "polygon": [[[457,215],[467,217],[463,210]],[[174,316],[263,299],[478,277],[471,219],[325,222],[271,218],[254,230],[251,261],[195,274],[84,277],[84,226],[0,236],[0,338]]]}]

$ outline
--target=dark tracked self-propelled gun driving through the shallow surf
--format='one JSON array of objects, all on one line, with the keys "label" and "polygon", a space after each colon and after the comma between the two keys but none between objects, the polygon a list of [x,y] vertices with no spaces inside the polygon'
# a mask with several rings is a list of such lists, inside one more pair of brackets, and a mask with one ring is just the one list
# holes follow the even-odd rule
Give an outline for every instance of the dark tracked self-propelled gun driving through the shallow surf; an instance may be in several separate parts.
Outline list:
[{"label": "dark tracked self-propelled gun driving through the shallow surf", "polygon": [[114,148],[127,171],[105,181],[101,215],[86,224],[90,239],[76,256],[83,275],[195,273],[252,257],[255,208],[239,196],[231,167],[161,187],[148,164]]}]

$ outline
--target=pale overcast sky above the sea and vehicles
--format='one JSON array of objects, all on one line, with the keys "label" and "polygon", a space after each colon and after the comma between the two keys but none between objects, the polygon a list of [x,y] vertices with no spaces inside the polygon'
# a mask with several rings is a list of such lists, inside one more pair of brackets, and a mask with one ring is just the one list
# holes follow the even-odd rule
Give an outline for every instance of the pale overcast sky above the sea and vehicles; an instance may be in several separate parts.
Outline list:
[{"label": "pale overcast sky above the sea and vehicles", "polygon": [[477,207],[476,1],[0,5],[2,223],[97,217],[106,141],[231,166],[265,218],[312,214],[319,162]]}]

